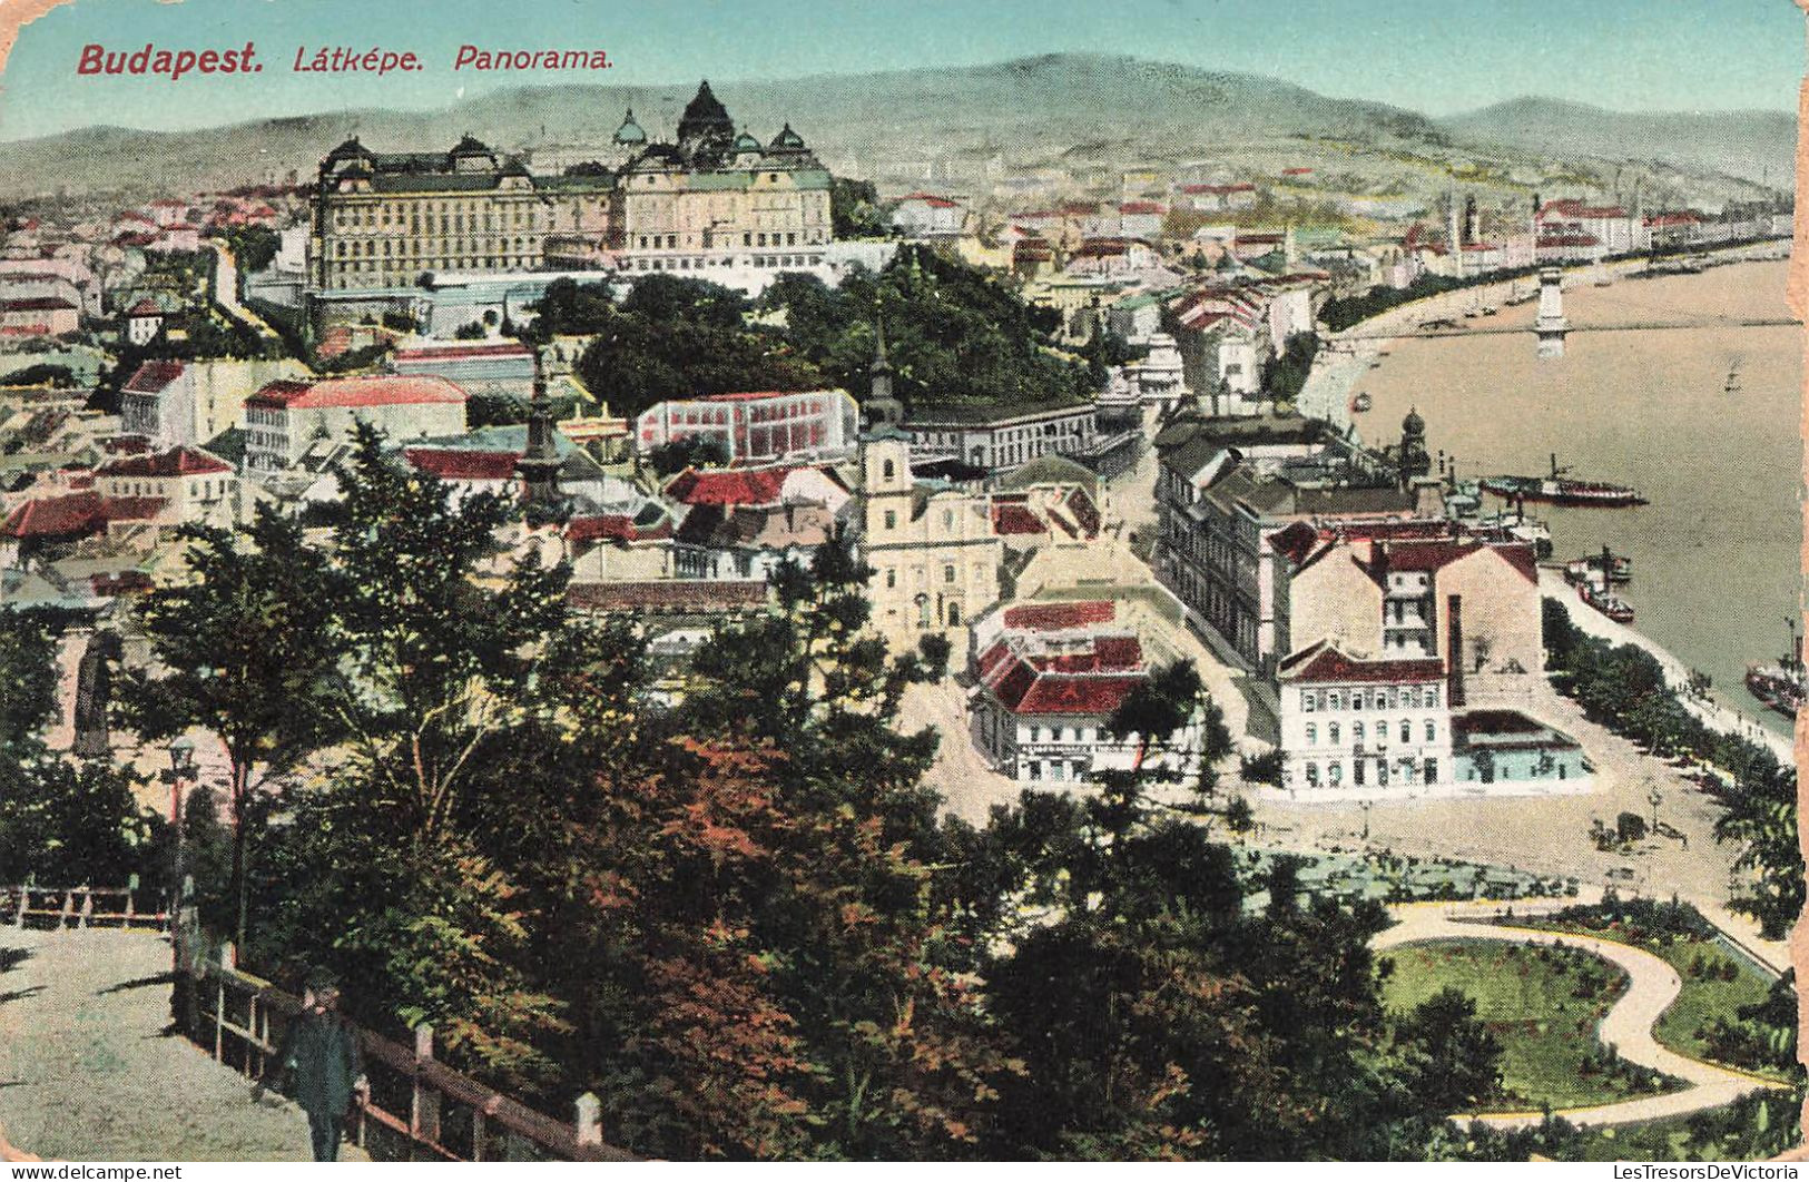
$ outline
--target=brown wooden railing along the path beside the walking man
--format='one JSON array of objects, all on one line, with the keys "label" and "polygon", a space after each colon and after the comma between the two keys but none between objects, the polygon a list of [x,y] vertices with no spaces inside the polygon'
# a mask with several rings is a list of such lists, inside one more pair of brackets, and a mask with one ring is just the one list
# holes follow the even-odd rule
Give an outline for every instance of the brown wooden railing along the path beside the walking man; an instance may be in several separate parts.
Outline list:
[{"label": "brown wooden railing along the path beside the walking man", "polygon": [[[185,971],[177,1007],[190,1041],[219,1063],[253,1079],[279,1054],[300,998],[233,967],[232,945],[217,956],[192,956],[177,947]],[[380,1160],[573,1160],[631,1162],[635,1155],[604,1144],[599,1101],[584,1093],[570,1124],[521,1104],[434,1059],[434,1030],[414,1028],[405,1046],[358,1030],[371,1099],[360,1108],[353,1137]]]}]

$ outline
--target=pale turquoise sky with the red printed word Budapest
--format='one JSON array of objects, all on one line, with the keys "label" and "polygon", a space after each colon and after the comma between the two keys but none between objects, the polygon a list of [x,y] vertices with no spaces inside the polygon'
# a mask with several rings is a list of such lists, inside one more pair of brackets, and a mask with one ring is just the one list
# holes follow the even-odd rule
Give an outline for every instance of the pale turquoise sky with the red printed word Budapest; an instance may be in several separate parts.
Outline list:
[{"label": "pale turquoise sky with the red printed word Budapest", "polygon": [[[246,42],[262,72],[76,72],[89,43]],[[461,43],[602,49],[611,69],[454,72]],[[425,69],[295,72],[297,49],[333,45],[412,51]],[[655,89],[1067,51],[1268,74],[1431,116],[1527,94],[1617,110],[1793,110],[1805,29],[1791,0],[76,0],[22,29],[0,76],[0,141],[98,123],[431,110],[537,80]]]}]

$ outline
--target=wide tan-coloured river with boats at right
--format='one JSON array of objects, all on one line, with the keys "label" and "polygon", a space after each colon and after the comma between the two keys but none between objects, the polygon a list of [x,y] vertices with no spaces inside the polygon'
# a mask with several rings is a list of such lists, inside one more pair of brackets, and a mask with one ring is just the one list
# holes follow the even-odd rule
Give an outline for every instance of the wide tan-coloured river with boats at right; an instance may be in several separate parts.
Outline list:
[{"label": "wide tan-coloured river with boats at right", "polygon": [[[1427,445],[1456,457],[1463,479],[1538,475],[1556,452],[1579,479],[1639,488],[1652,504],[1527,511],[1550,522],[1554,560],[1603,544],[1632,557],[1621,595],[1637,609],[1634,627],[1708,672],[1726,705],[1787,730],[1742,676],[1749,660],[1785,649],[1798,605],[1804,342],[1795,325],[1726,324],[1789,316],[1785,277],[1784,262],[1744,262],[1610,286],[1577,278],[1565,291],[1576,329],[1688,327],[1574,331],[1556,360],[1534,356],[1530,333],[1393,342],[1357,381],[1373,398],[1357,427],[1389,443],[1416,407]],[[1473,296],[1451,300],[1462,309]],[[1460,324],[1518,327],[1532,314],[1525,304]],[[1500,504],[1485,497],[1485,510]]]}]

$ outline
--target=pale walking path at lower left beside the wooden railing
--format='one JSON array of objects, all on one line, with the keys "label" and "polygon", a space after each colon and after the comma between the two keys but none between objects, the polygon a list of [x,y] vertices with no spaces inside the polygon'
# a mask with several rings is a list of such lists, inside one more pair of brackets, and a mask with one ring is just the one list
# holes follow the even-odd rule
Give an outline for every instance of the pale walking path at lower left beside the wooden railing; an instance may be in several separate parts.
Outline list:
[{"label": "pale walking path at lower left beside the wooden railing", "polygon": [[0,927],[0,1144],[90,1162],[309,1159],[300,1108],[251,1101],[168,1030],[168,972],[156,933]]}]

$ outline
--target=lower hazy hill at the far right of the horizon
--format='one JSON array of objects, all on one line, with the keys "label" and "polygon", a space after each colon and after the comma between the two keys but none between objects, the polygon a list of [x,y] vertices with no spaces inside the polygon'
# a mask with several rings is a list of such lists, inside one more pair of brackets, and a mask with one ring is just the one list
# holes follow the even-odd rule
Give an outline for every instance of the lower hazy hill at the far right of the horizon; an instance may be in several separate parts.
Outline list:
[{"label": "lower hazy hill at the far right of the horizon", "polygon": [[1787,110],[1624,112],[1518,98],[1438,121],[1453,139],[1550,155],[1659,161],[1789,188],[1796,117]]}]

